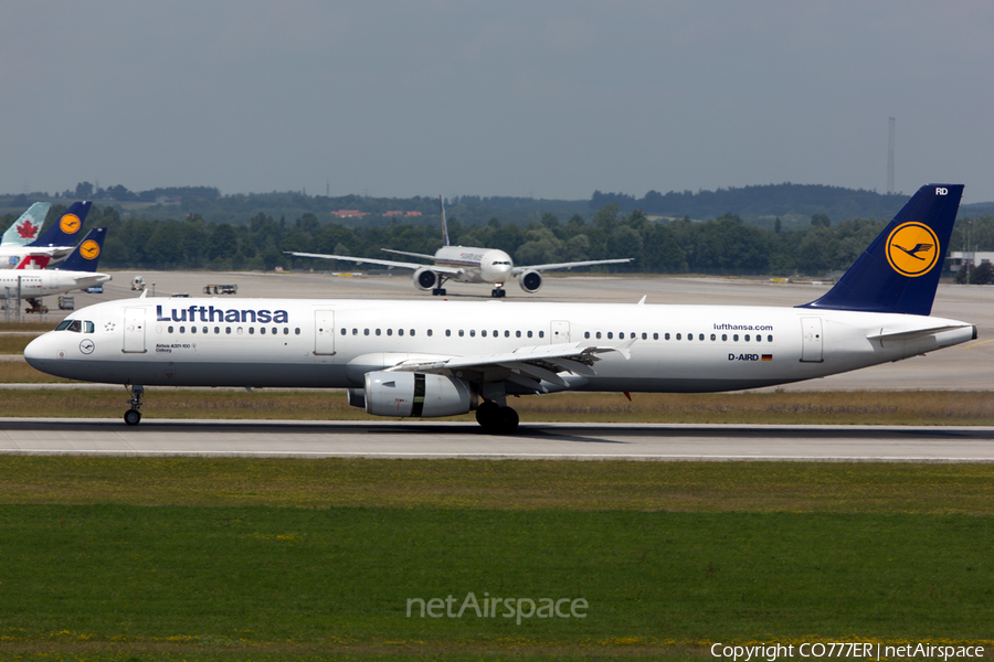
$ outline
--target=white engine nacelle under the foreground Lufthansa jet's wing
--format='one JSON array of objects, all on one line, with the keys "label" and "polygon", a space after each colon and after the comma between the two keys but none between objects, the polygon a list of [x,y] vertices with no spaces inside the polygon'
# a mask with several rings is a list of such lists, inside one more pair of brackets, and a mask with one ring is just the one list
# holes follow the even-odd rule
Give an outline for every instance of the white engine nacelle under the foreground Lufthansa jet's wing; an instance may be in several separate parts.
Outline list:
[{"label": "white engine nacelle under the foreground Lufthansa jet's wing", "polygon": [[411,372],[366,373],[366,412],[373,416],[434,418],[469,412],[473,391],[455,377]]}]

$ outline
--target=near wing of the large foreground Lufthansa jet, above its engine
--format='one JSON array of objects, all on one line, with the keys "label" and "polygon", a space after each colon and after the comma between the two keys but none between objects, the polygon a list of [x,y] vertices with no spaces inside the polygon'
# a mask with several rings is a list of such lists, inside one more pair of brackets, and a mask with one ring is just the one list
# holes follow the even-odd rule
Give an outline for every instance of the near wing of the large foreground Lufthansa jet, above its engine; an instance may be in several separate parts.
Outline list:
[{"label": "near wing of the large foreground Lufthansa jet, above its engine", "polygon": [[593,376],[593,364],[600,361],[598,354],[620,352],[631,357],[630,349],[635,339],[617,346],[589,345],[582,342],[554,345],[518,348],[514,352],[484,354],[479,356],[452,356],[431,360],[404,361],[388,370],[394,372],[420,372],[451,375],[455,371],[477,372],[488,375],[487,381],[508,380],[516,384],[544,392],[542,382],[561,387],[569,383],[558,373],[571,372],[581,376]]}]

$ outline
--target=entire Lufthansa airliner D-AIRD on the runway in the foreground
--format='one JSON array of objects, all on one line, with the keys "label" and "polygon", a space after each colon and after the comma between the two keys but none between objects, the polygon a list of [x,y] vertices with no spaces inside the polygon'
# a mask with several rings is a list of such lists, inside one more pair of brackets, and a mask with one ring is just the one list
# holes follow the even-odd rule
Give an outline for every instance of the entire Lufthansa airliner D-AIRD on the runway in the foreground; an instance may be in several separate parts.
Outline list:
[{"label": "entire Lufthansa airliner D-AIRD on the runway in the foreground", "polygon": [[141,298],[74,311],[24,356],[125,385],[129,425],[146,385],[327,387],[369,414],[475,412],[506,434],[508,396],[739,391],[975,339],[970,322],[929,317],[962,191],[920,189],[825,296],[793,308]]}]

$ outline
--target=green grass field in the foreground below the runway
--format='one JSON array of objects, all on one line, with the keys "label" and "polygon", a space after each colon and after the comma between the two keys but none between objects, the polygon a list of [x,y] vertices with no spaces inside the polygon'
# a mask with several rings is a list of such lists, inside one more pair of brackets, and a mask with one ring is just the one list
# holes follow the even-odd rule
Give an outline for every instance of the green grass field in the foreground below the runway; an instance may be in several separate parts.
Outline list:
[{"label": "green grass field in the foreground below the runway", "polygon": [[[0,456],[0,658],[994,645],[992,479],[986,465]],[[410,598],[469,591],[582,597],[589,616],[406,616]]]}]

